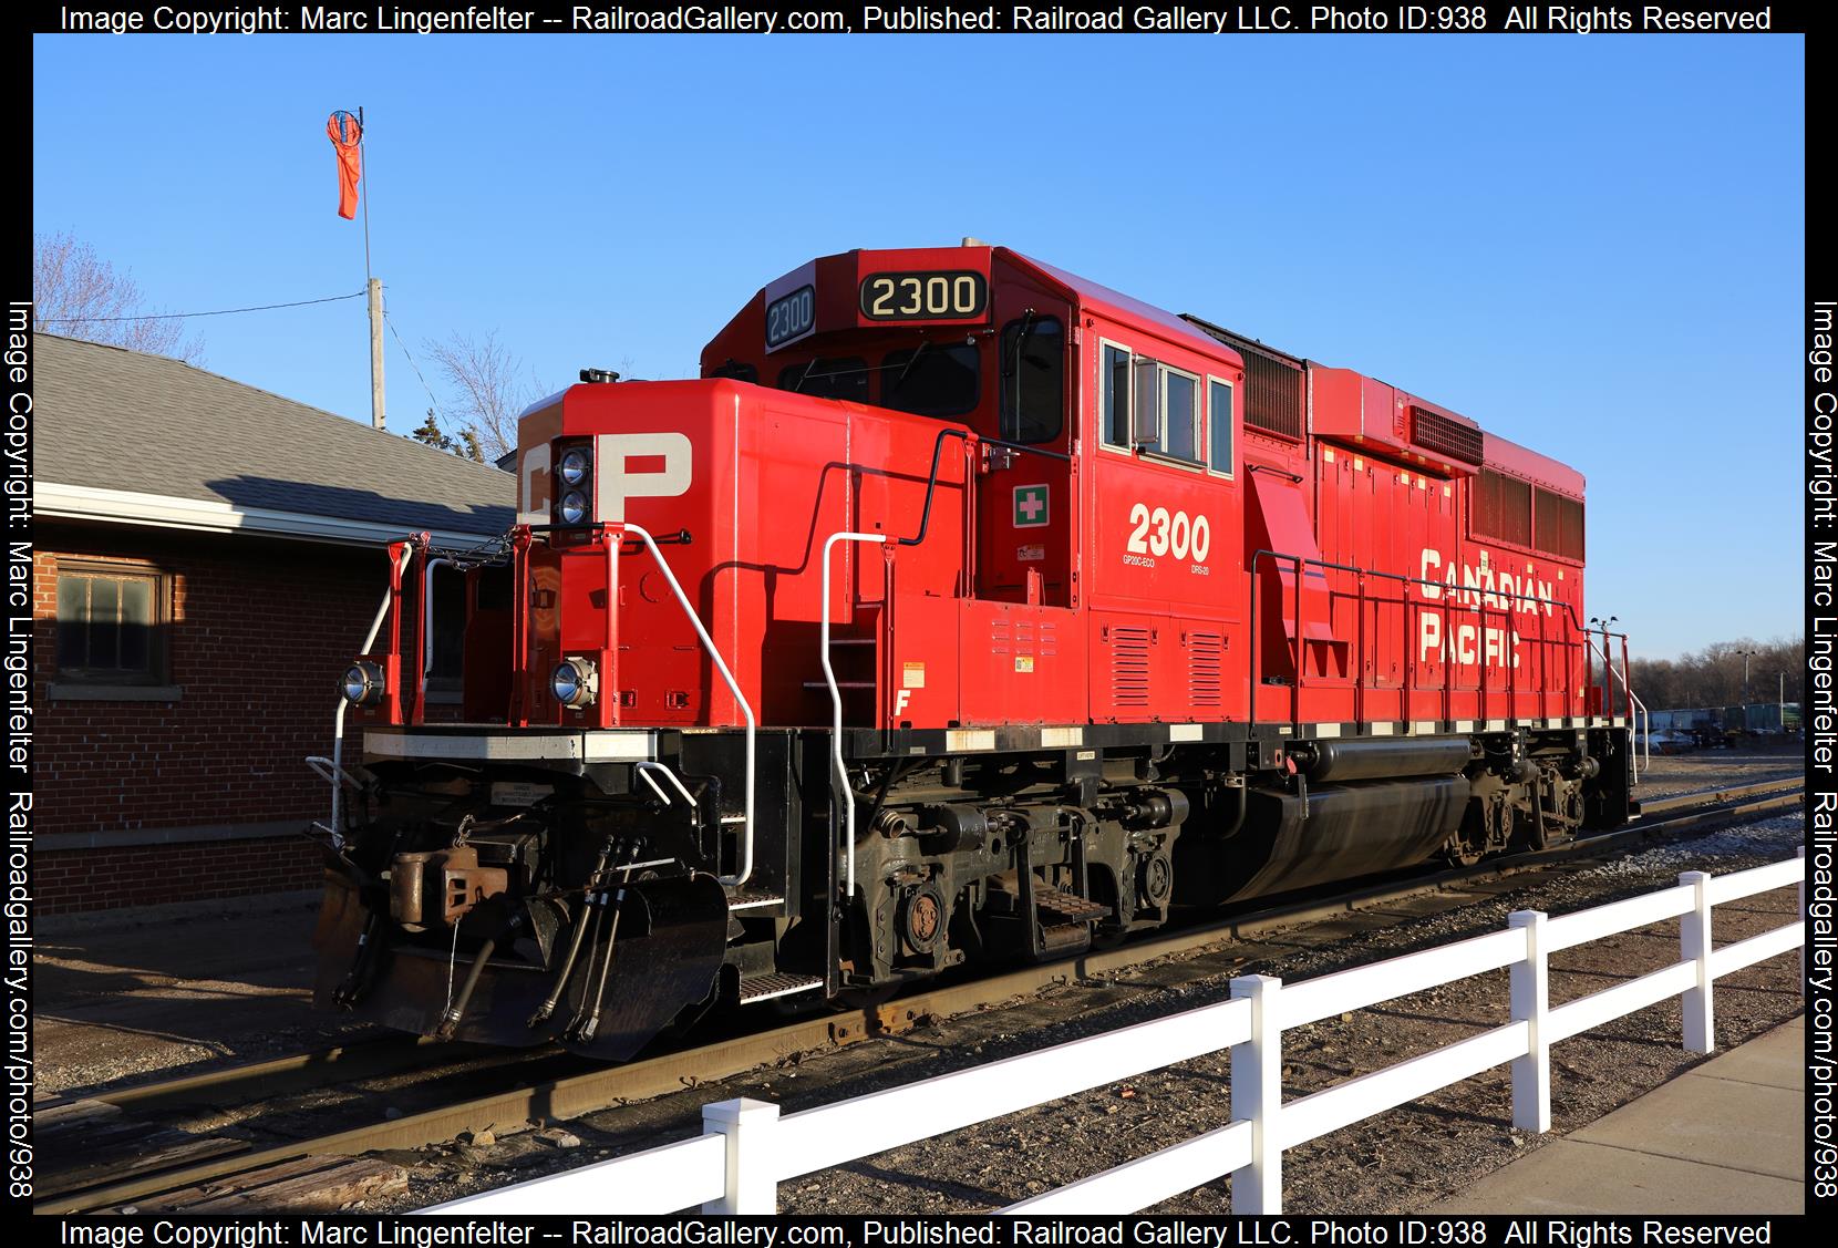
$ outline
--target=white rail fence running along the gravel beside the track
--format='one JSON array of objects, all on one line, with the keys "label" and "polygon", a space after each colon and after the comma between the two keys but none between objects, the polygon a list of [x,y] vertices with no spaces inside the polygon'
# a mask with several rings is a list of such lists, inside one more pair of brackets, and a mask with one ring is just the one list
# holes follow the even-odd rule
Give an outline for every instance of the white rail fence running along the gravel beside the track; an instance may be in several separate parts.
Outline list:
[{"label": "white rail fence running along the gravel beside the track", "polygon": [[[1283,1151],[1494,1066],[1513,1064],[1513,1125],[1551,1127],[1551,1046],[1671,996],[1684,998],[1684,1048],[1715,1044],[1717,978],[1805,945],[1799,858],[1711,877],[1551,919],[1526,910],[1503,932],[1285,985],[1231,981],[1231,1000],[987,1066],[779,1116],[739,1099],[702,1108],[702,1136],[533,1178],[425,1213],[774,1213],[777,1186],[901,1145],[1057,1101],[1219,1049],[1231,1049],[1231,1123],[1004,1213],[1125,1213],[1231,1174],[1233,1213],[1281,1213]],[[1711,908],[1799,884],[1799,913],[1713,948]],[[1573,945],[1682,917],[1680,959],[1553,1007],[1548,958]],[[1801,952],[1803,970],[1805,952]],[[1511,967],[1511,1022],[1386,1070],[1283,1103],[1283,1031],[1454,980]]]}]

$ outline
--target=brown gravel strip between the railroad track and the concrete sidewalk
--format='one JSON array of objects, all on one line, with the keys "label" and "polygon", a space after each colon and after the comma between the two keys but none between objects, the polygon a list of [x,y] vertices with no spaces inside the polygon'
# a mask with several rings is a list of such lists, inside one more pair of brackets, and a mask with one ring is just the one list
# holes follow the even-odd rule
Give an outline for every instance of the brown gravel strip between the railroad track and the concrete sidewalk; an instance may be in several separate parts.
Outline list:
[{"label": "brown gravel strip between the railroad track and the concrete sidewalk", "polygon": [[[1689,785],[1704,787],[1702,774]],[[1498,930],[1513,910],[1568,913],[1674,884],[1687,869],[1728,873],[1761,866],[1792,857],[1803,831],[1803,818],[1794,814],[1606,862],[1579,860],[1526,871],[1465,886],[1459,895],[1428,893],[1255,943],[1162,959],[1103,981],[1061,985],[901,1037],[789,1055],[774,1070],[575,1119],[568,1130],[581,1145],[564,1152],[516,1134],[500,1134],[493,1149],[404,1152],[399,1160],[410,1165],[412,1186],[393,1208],[421,1208],[698,1134],[700,1106],[711,1101],[748,1095],[774,1101],[787,1112],[825,1105],[1224,1000],[1230,980],[1239,974],[1310,980]],[[1717,941],[1753,936],[1794,913],[1794,890],[1719,906]],[[1562,950],[1551,958],[1551,1004],[1597,993],[1676,958],[1676,921]],[[1717,1046],[1741,1044],[1799,1007],[1796,954],[1719,980]],[[1296,1027],[1283,1037],[1285,1099],[1503,1022],[1507,972],[1496,970]],[[1502,1066],[1288,1151],[1285,1208],[1292,1213],[1424,1208],[1698,1061],[1682,1051],[1676,998],[1643,1009],[1553,1049],[1551,1134],[1513,1130],[1509,1072]],[[787,1213],[987,1211],[1222,1127],[1230,1118],[1230,1061],[1215,1053],[789,1180],[779,1189],[779,1202]],[[1156,1208],[1163,1213],[1228,1209],[1226,1180]]]}]

